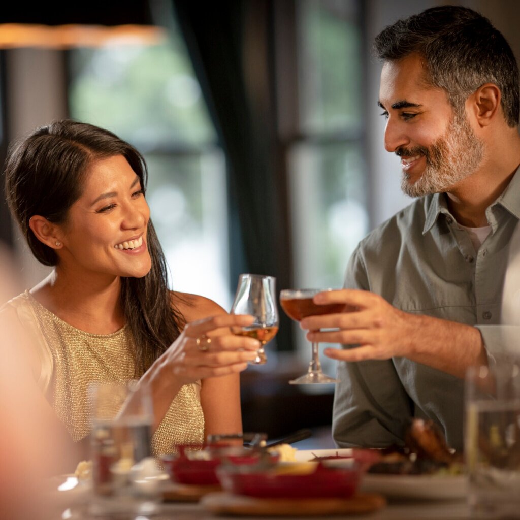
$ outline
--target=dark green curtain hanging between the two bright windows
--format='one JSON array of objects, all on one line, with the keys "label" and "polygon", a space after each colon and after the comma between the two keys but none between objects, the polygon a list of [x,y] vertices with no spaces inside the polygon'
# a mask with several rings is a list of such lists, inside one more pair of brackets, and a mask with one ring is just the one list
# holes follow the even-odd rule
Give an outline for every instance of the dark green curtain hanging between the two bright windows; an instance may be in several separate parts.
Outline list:
[{"label": "dark green curtain hanging between the two bright windows", "polygon": [[[291,287],[285,154],[277,138],[273,2],[173,0],[228,165],[231,284],[240,272]],[[281,313],[278,348],[291,349]]]}]

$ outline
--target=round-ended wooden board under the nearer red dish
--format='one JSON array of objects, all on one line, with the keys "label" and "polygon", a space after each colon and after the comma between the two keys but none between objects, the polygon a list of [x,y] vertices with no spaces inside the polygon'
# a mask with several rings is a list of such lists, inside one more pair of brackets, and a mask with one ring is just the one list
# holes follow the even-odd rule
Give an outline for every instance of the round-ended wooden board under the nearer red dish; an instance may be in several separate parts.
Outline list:
[{"label": "round-ended wooden board under the nearer red dish", "polygon": [[231,493],[210,493],[201,505],[215,514],[249,516],[316,516],[370,513],[382,508],[386,500],[375,493],[358,493],[352,498],[275,499],[253,498]]}]

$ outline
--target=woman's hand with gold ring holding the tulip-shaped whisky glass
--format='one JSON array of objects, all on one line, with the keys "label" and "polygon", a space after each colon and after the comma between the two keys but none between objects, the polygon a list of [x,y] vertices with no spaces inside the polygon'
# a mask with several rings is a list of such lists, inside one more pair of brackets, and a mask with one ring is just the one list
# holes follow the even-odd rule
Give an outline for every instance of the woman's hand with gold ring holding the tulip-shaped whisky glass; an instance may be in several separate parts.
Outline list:
[{"label": "woman's hand with gold ring holding the tulip-shaped whisky glass", "polygon": [[261,344],[232,334],[230,328],[253,321],[252,316],[229,314],[192,321],[158,361],[182,384],[241,372],[256,358]]}]

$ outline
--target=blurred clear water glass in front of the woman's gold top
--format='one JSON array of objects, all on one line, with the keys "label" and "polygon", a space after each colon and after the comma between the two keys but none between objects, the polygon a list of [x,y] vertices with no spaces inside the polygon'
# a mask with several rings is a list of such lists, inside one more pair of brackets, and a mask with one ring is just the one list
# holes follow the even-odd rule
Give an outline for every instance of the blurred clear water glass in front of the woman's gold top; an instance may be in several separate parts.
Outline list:
[{"label": "blurred clear water glass in front of the woman's gold top", "polygon": [[137,382],[89,387],[93,515],[150,515],[159,509],[159,469],[151,453],[153,407]]}]

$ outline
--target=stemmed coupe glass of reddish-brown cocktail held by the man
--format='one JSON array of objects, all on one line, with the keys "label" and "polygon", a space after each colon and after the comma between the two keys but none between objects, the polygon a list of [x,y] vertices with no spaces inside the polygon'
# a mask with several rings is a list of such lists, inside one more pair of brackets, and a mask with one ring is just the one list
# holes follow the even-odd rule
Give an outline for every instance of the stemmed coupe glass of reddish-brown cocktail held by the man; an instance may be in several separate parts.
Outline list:
[{"label": "stemmed coupe glass of reddish-brown cocktail held by the man", "polygon": [[[317,305],[313,302],[313,296],[324,290],[326,289],[284,289],[280,291],[280,305],[289,318],[298,322],[307,316],[341,313],[345,308],[344,304]],[[310,360],[307,373],[289,381],[289,383],[292,385],[337,383],[336,379],[329,378],[321,370],[318,343],[313,342],[312,347],[313,358]]]}]

